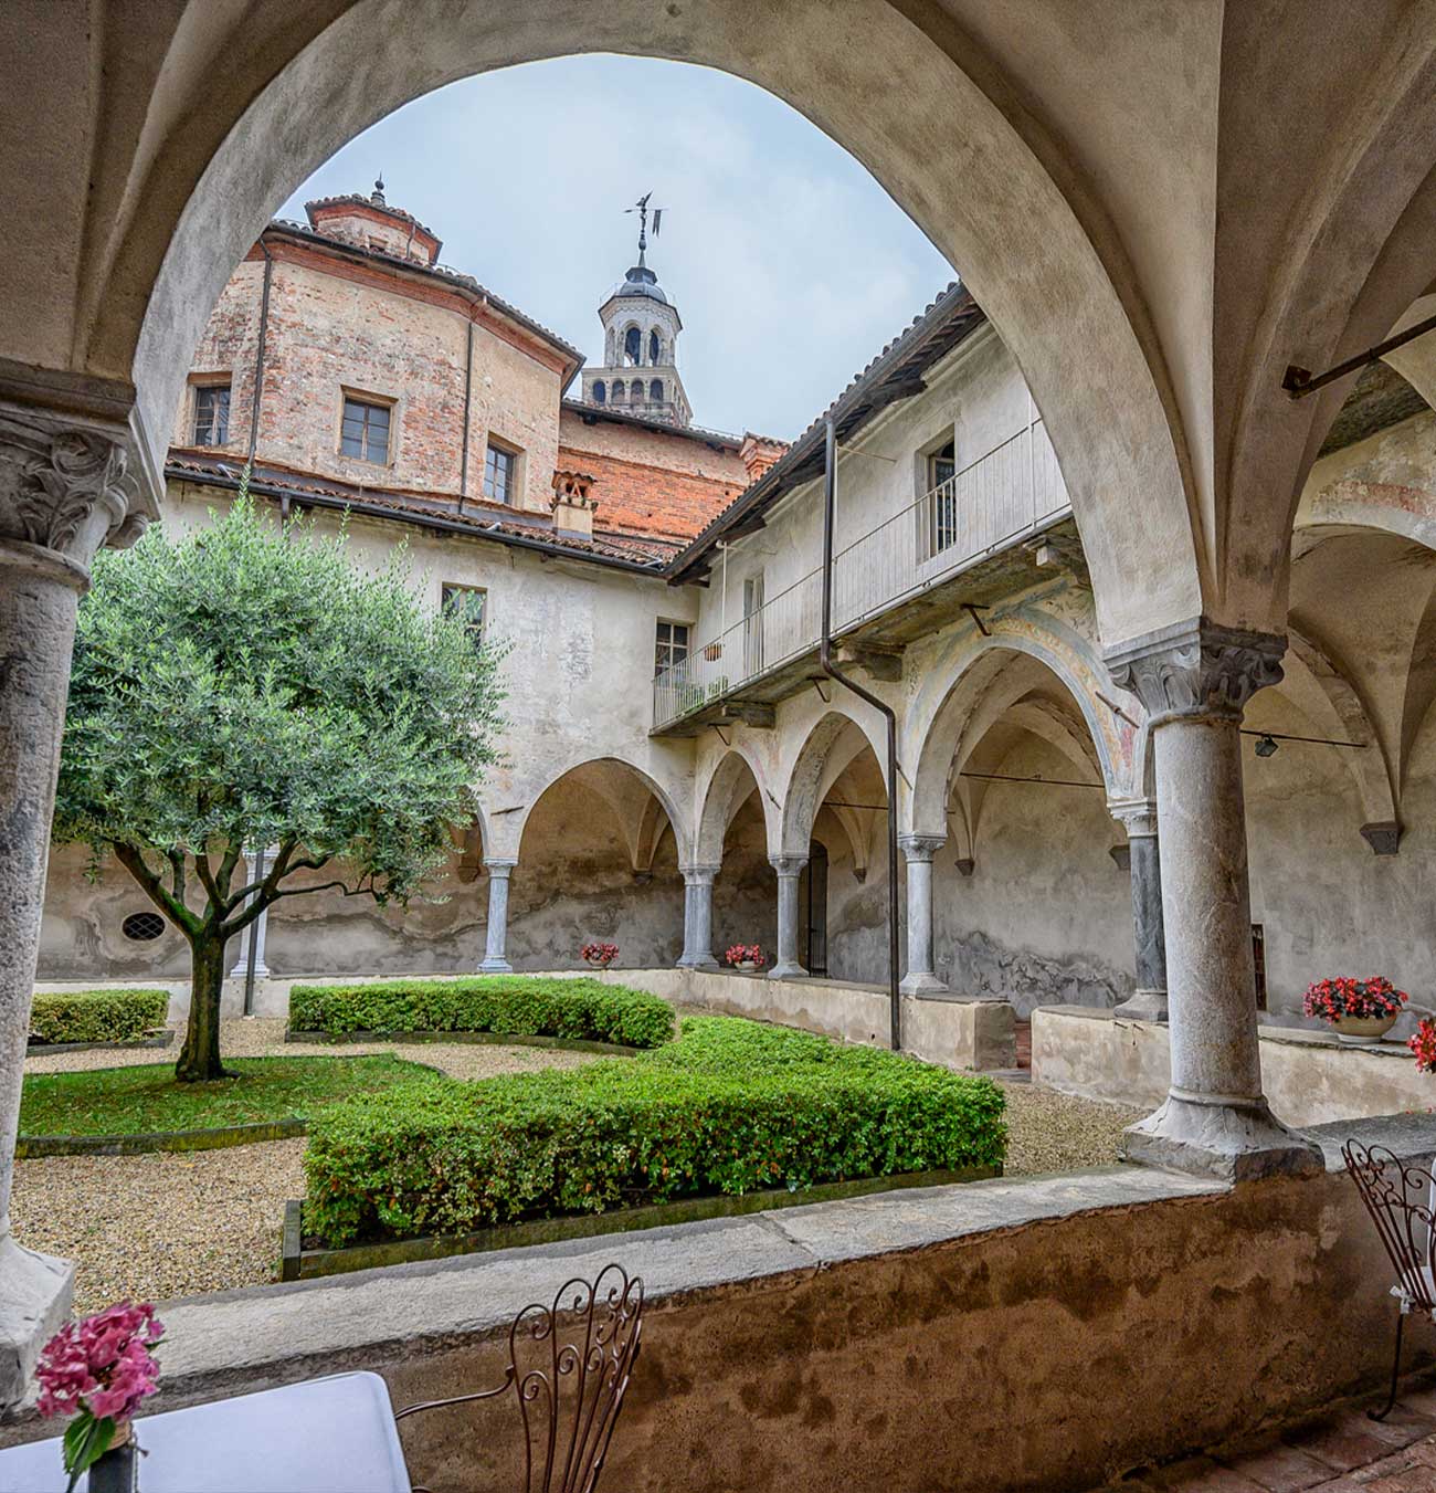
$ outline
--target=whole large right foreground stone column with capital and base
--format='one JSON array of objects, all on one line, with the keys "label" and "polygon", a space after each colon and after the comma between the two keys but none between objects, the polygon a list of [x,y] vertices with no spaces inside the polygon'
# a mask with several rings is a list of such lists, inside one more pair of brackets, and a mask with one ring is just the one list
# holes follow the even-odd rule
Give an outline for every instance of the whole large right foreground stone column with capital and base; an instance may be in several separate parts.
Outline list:
[{"label": "whole large right foreground stone column with capital and base", "polygon": [[1151,717],[1172,1041],[1167,1100],[1123,1154],[1229,1181],[1323,1165],[1272,1117],[1257,1044],[1239,729],[1251,696],[1281,679],[1284,648],[1197,621],[1108,657]]}]

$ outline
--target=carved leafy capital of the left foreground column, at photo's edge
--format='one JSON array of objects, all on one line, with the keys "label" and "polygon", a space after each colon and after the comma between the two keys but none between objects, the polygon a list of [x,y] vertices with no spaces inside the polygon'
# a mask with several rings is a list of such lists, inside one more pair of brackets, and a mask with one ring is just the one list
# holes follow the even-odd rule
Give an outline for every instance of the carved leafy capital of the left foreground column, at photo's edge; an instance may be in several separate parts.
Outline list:
[{"label": "carved leafy capital of the left foreground column, at photo's edge", "polygon": [[148,494],[130,473],[127,431],[0,402],[0,540],[84,570],[104,545],[145,532]]}]

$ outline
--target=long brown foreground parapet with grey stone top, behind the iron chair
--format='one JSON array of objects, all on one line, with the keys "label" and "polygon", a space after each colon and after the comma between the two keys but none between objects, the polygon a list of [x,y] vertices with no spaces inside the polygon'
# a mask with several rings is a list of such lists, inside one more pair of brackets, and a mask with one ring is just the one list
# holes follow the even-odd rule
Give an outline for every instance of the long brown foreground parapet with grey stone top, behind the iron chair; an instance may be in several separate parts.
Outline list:
[{"label": "long brown foreground parapet with grey stone top, behind the iron chair", "polygon": [[[1436,1148],[1430,1117],[1357,1129]],[[619,1260],[649,1312],[606,1486],[1102,1487],[1381,1384],[1391,1271],[1340,1172],[1346,1133],[1320,1136],[1314,1178],[1109,1168],[167,1303],[154,1408],[355,1368],[396,1406],[491,1388],[519,1308]],[[1432,1341],[1412,1318],[1409,1368]],[[52,1432],[28,1418],[0,1441]],[[419,1415],[405,1444],[427,1487],[522,1484],[511,1399]]]}]

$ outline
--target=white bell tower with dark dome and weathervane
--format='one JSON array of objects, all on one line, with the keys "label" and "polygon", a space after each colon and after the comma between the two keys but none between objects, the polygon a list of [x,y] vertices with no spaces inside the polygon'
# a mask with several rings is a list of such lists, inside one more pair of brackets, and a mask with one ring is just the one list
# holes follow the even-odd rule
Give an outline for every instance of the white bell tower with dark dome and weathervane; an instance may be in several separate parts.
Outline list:
[{"label": "white bell tower with dark dome and weathervane", "polygon": [[[624,415],[688,426],[693,409],[678,373],[678,334],[684,322],[646,263],[648,196],[628,209],[639,213],[639,261],[599,308],[603,366],[584,369],[584,402]],[[652,212],[657,237],[663,209]]]}]

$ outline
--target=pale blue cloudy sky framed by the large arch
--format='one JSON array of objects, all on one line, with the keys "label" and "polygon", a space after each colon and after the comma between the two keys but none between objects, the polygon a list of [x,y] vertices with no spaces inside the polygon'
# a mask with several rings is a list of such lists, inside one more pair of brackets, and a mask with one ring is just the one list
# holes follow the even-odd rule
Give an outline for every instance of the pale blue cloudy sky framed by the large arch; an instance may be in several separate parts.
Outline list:
[{"label": "pale blue cloudy sky framed by the large arch", "polygon": [[470,78],[346,145],[285,203],[370,191],[467,270],[602,360],[597,308],[636,255],[684,318],[694,420],[791,437],[951,279],[840,146],[749,84],[679,63],[573,57]]}]

